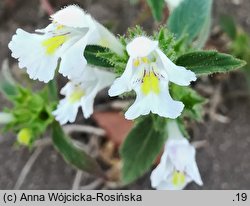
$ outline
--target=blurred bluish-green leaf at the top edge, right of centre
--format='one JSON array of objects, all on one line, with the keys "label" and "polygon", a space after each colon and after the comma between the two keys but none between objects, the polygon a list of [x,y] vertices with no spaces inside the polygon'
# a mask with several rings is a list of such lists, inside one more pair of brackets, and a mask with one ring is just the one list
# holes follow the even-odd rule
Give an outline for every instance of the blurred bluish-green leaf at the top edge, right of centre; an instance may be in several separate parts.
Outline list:
[{"label": "blurred bluish-green leaf at the top edge, right of centre", "polygon": [[212,0],[184,0],[170,15],[168,27],[178,39],[188,34],[190,43],[210,18],[211,8]]}]

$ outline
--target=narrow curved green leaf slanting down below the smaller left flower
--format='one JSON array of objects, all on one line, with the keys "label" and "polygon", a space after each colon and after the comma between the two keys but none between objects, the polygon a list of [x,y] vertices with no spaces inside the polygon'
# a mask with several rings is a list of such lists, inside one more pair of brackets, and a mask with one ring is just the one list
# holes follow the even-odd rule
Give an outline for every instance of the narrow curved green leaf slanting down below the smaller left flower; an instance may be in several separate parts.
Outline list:
[{"label": "narrow curved green leaf slanting down below the smaller left flower", "polygon": [[65,135],[61,126],[57,122],[54,122],[52,127],[52,140],[54,146],[66,162],[82,171],[86,171],[97,176],[103,176],[97,162],[87,155],[82,149],[76,146],[72,140]]}]

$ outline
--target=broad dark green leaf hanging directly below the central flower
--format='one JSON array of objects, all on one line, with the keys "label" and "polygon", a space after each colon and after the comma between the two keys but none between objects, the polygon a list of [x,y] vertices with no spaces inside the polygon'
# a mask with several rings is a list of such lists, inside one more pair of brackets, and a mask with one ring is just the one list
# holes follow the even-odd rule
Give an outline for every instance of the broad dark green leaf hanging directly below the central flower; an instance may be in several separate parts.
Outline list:
[{"label": "broad dark green leaf hanging directly below the central flower", "polygon": [[[158,122],[157,127],[154,121]],[[155,119],[148,115],[134,126],[120,150],[125,184],[133,182],[150,169],[167,138],[165,125],[164,118]]]}]

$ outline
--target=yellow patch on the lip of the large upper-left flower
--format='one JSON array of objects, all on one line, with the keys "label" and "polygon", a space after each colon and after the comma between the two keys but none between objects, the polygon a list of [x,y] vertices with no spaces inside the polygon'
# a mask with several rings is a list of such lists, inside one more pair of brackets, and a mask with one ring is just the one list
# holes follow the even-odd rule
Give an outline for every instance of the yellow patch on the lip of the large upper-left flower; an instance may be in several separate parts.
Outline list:
[{"label": "yellow patch on the lip of the large upper-left flower", "polygon": [[56,50],[68,40],[66,35],[54,36],[46,39],[42,42],[42,45],[46,48],[47,55],[53,55]]}]

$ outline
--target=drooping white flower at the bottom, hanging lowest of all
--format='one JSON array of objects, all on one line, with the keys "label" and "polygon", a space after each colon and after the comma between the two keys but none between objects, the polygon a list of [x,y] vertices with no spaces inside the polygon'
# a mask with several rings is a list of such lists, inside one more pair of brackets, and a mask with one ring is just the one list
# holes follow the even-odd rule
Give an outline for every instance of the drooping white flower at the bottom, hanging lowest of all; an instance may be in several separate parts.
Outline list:
[{"label": "drooping white flower at the bottom, hanging lowest of all", "polygon": [[203,185],[195,148],[183,137],[175,121],[168,122],[165,150],[150,179],[152,187],[159,190],[181,190],[191,181]]}]

